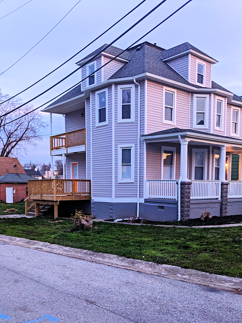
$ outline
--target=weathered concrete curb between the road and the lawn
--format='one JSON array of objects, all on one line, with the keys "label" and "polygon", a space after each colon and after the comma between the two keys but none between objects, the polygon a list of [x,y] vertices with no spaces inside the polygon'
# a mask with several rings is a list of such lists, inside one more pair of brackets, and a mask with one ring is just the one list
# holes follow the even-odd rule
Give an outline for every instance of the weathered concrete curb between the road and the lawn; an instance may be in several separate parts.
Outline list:
[{"label": "weathered concrete curb between the road and the lawn", "polygon": [[103,254],[84,249],[52,245],[48,242],[29,240],[0,234],[0,241],[21,247],[50,252],[82,260],[92,261],[99,264],[130,269],[145,274],[163,276],[189,283],[214,287],[230,292],[242,293],[242,279],[222,275],[209,274],[194,269],[184,269],[178,266],[159,265],[153,262],[129,259],[117,255]]}]

